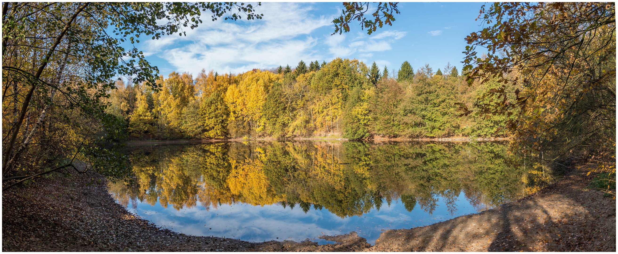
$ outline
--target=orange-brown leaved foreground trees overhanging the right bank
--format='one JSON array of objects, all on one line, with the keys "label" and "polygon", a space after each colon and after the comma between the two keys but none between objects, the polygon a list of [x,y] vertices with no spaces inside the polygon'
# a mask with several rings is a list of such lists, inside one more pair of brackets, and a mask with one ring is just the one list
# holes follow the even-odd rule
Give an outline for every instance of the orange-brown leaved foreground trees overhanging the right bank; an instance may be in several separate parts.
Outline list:
[{"label": "orange-brown leaved foreground trees overhanging the right bank", "polygon": [[[559,166],[587,150],[615,179],[615,15],[615,5],[604,2],[483,6],[488,25],[466,38],[462,71],[468,84],[496,78],[501,86],[483,96],[493,100],[476,103],[478,110],[462,110],[514,116],[506,128],[517,137],[518,154]],[[480,47],[486,57],[478,57]]]}]

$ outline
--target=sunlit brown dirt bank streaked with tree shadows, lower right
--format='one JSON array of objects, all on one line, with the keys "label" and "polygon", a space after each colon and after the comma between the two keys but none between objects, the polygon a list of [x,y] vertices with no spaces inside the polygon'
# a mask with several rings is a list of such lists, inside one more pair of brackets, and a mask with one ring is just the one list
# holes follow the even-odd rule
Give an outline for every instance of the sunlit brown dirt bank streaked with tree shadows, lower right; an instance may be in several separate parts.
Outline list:
[{"label": "sunlit brown dirt bank streaked with tree shadows, lower right", "polygon": [[474,215],[386,231],[371,251],[615,251],[616,200],[572,171],[540,192]]}]

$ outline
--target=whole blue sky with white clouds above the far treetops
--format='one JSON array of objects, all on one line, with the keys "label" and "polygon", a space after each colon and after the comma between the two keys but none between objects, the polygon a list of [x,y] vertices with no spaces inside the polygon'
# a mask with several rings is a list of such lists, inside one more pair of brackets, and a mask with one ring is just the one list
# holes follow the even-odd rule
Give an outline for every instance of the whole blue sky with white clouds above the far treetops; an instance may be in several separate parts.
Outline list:
[{"label": "whole blue sky with white clouds above the far treetops", "polygon": [[407,60],[416,70],[428,63],[433,70],[447,62],[462,68],[465,36],[481,29],[475,21],[483,2],[400,2],[392,27],[366,35],[358,23],[350,32],[331,35],[332,19],[341,2],[263,2],[256,7],[262,20],[217,20],[204,17],[187,36],[164,36],[142,41],[137,47],[162,75],[202,68],[219,73],[242,73],[279,65],[294,68],[298,61],[329,62],[336,57],[375,61],[398,70]]}]

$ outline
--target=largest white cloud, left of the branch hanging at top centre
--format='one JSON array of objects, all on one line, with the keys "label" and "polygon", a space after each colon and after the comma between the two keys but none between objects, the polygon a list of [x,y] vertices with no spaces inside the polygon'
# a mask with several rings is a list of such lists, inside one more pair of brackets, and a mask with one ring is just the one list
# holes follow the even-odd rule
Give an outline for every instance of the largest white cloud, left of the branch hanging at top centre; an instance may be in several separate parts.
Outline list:
[{"label": "largest white cloud, left of the branch hanging at top centre", "polygon": [[317,39],[310,33],[331,25],[332,17],[311,15],[311,8],[307,4],[265,3],[256,8],[264,14],[262,20],[204,22],[197,29],[187,31],[187,36],[165,36],[160,41],[149,41],[147,54],[158,54],[176,70],[194,74],[202,68],[239,73],[320,59],[311,52]]}]

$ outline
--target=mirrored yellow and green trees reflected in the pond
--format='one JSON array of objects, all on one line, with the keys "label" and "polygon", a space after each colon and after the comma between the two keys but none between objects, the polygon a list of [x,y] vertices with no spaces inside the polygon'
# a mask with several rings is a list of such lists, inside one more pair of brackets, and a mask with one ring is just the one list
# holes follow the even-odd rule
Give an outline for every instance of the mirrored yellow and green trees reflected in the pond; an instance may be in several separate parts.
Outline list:
[{"label": "mirrored yellow and green trees reflected in the pond", "polygon": [[[477,211],[525,194],[527,173],[505,162],[506,144],[222,142],[131,147],[133,182],[110,183],[122,205],[176,210],[247,203],[361,216],[400,200],[405,209],[453,215],[464,192]],[[386,202],[386,203],[384,203]]]}]

